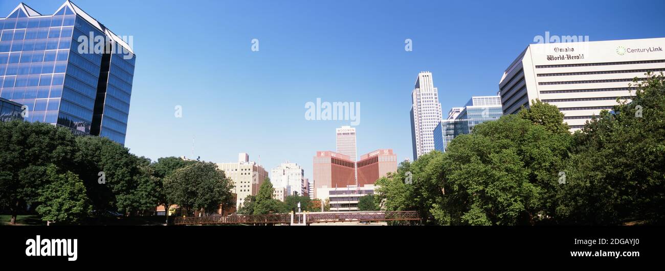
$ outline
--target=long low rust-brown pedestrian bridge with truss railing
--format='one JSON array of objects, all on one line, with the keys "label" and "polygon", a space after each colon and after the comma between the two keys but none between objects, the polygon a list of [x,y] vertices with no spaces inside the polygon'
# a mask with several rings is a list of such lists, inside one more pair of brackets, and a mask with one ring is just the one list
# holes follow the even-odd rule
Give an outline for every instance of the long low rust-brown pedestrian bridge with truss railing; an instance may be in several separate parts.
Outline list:
[{"label": "long low rust-brown pedestrian bridge with truss railing", "polygon": [[416,211],[303,212],[271,215],[176,217],[174,225],[310,225],[335,222],[420,221]]}]

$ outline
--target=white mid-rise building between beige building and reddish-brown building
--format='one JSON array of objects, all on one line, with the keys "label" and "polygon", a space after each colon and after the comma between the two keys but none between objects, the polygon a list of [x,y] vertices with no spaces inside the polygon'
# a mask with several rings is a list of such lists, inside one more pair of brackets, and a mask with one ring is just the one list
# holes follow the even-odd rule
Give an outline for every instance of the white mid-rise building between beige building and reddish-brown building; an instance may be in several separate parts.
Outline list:
[{"label": "white mid-rise building between beige building and reddish-brown building", "polygon": [[273,187],[286,189],[287,196],[308,193],[308,191],[304,191],[307,189],[305,169],[297,163],[287,161],[273,168],[270,172],[270,181],[273,182]]}]

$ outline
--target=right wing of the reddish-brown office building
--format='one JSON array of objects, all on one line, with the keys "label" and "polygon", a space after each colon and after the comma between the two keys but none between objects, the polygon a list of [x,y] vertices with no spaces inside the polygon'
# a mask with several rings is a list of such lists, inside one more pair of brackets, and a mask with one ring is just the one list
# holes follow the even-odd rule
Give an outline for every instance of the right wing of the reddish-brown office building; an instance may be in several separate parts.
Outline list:
[{"label": "right wing of the reddish-brown office building", "polygon": [[377,149],[370,153],[360,155],[356,162],[358,186],[374,185],[376,180],[386,177],[388,172],[397,171],[397,155],[392,149]]}]

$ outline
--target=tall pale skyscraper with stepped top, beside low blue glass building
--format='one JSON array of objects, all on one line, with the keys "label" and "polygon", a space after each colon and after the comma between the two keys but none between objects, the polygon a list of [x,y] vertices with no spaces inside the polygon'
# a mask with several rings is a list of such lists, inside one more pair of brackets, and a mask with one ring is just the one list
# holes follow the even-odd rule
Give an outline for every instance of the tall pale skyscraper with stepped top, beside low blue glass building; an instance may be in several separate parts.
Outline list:
[{"label": "tall pale skyscraper with stepped top, beside low blue glass building", "polygon": [[434,149],[432,131],[442,120],[439,94],[432,82],[432,72],[418,74],[411,101],[411,136],[415,160]]}]

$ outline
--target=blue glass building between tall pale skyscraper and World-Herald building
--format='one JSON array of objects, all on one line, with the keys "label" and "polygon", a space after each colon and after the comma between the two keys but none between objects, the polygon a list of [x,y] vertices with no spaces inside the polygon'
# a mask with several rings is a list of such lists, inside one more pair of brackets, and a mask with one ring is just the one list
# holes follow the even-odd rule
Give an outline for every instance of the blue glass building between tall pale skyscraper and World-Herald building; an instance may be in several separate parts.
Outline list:
[{"label": "blue glass building between tall pale skyscraper and World-Herald building", "polygon": [[447,120],[441,120],[434,128],[434,149],[446,151],[448,143],[462,134],[470,134],[477,124],[496,120],[503,116],[501,96],[474,96],[461,112],[450,111]]}]

